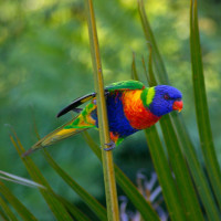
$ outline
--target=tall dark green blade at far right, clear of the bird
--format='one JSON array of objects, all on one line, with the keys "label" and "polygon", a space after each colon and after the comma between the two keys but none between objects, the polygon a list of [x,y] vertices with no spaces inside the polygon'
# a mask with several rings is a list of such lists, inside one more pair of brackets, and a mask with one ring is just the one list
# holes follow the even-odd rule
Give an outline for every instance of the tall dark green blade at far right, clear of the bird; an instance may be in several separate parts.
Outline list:
[{"label": "tall dark green blade at far right, clear of the bird", "polygon": [[197,0],[190,1],[190,50],[196,114],[200,135],[200,144],[208,175],[210,177],[219,207],[221,208],[221,171],[215,156],[207,103],[198,27]]}]

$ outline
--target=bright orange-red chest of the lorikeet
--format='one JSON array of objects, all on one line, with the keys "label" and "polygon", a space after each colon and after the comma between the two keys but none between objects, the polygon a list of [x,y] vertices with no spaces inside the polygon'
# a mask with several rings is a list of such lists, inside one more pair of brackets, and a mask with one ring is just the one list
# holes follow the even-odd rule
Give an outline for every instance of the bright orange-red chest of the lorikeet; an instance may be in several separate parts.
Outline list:
[{"label": "bright orange-red chest of the lorikeet", "polygon": [[136,129],[148,128],[160,119],[160,117],[145,108],[140,99],[140,94],[141,90],[128,91],[125,92],[122,97],[125,116],[129,120],[131,127]]}]

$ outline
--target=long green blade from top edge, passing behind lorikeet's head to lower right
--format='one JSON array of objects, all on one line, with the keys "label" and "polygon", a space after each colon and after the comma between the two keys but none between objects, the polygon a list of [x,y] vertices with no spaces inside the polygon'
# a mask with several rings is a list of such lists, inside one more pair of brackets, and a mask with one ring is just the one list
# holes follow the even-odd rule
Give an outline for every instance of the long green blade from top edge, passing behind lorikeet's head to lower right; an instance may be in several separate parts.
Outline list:
[{"label": "long green blade from top edge, passing behind lorikeet's head to lower right", "polygon": [[[158,62],[155,62],[154,64],[155,65],[157,65],[157,64],[161,65],[161,67],[156,66],[156,69],[155,69],[156,73],[159,76],[164,76],[164,77],[158,77],[158,83],[159,84],[169,84],[169,81],[167,81],[168,77],[167,77],[167,72],[166,72],[164,62],[161,60],[159,50],[157,48],[151,28],[150,28],[149,22],[147,20],[146,12],[144,10],[144,4],[140,1],[139,1],[139,4],[140,4],[139,7],[141,7],[139,9],[139,13],[140,13],[141,22],[143,22],[143,29],[144,29],[144,32],[145,32],[145,36],[146,36],[147,41],[150,43],[152,51],[157,51],[157,53],[155,53],[154,59],[158,60]],[[151,80],[150,80],[150,82],[151,82]],[[183,119],[182,119],[180,114],[179,114],[179,116],[178,116],[177,113],[172,113],[171,115],[173,116],[173,118],[172,118],[173,129],[179,135],[181,149],[186,155],[186,159],[187,159],[188,165],[190,167],[191,173],[193,175],[192,178],[196,182],[197,190],[200,194],[200,198],[201,198],[202,203],[204,206],[208,218],[211,221],[219,220],[219,212],[218,212],[217,204],[213,200],[212,192],[210,190],[208,180],[207,180],[204,172],[201,168],[201,165],[200,165],[200,162],[197,158],[197,154],[196,154],[193,144],[192,144],[190,136],[187,131]]]}]

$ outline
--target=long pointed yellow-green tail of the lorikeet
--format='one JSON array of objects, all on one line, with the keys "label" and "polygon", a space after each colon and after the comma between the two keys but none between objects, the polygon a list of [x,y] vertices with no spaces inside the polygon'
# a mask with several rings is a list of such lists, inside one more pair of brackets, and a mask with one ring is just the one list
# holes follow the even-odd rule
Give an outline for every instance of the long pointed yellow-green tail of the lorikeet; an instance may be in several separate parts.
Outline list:
[{"label": "long pointed yellow-green tail of the lorikeet", "polygon": [[86,130],[91,127],[95,127],[92,124],[85,123],[82,115],[78,115],[74,119],[59,127],[54,131],[50,133],[42,139],[40,139],[36,144],[34,144],[29,150],[27,150],[22,156],[27,157],[31,155],[33,151],[41,149],[43,147],[53,145],[62,139],[65,139],[70,136],[76,135],[83,130]]}]

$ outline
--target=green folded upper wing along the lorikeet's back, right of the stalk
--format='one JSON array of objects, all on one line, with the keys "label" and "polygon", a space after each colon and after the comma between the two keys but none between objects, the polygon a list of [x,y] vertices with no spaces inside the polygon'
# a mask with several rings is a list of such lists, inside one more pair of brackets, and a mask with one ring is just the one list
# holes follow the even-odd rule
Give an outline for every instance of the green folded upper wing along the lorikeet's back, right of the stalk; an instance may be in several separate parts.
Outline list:
[{"label": "green folded upper wing along the lorikeet's back, right of the stalk", "polygon": [[141,82],[138,81],[123,81],[123,82],[117,82],[113,83],[109,86],[106,86],[105,90],[108,92],[112,91],[125,91],[125,90],[144,90],[145,85]]}]

